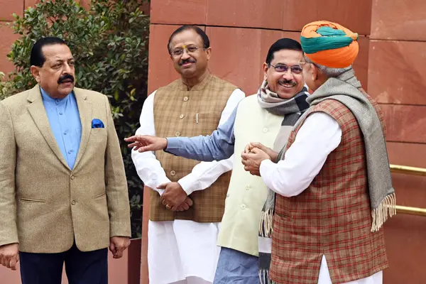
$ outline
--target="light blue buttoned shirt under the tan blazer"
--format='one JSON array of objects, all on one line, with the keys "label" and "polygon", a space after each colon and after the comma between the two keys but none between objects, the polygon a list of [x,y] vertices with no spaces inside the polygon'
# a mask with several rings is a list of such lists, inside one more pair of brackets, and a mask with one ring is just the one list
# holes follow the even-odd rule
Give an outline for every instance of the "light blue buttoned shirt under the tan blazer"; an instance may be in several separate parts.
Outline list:
[{"label": "light blue buttoned shirt under the tan blazer", "polygon": [[63,99],[54,99],[42,88],[40,88],[40,91],[50,129],[62,155],[72,170],[82,138],[82,123],[75,95],[72,92]]}]

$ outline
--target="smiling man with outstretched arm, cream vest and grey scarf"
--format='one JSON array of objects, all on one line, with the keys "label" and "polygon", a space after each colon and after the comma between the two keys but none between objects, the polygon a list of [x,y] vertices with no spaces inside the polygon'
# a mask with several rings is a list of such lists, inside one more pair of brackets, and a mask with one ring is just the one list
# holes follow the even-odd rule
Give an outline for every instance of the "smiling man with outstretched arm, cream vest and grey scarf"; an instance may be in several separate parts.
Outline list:
[{"label": "smiling man with outstretched arm, cream vest and grey scarf", "polygon": [[[222,160],[236,153],[234,169],[218,244],[222,247],[214,283],[259,283],[258,262],[261,252],[258,229],[261,211],[266,200],[266,185],[261,178],[244,170],[240,154],[251,141],[272,147],[278,131],[291,126],[307,109],[307,89],[302,77],[302,47],[290,38],[271,45],[263,64],[264,82],[258,94],[246,97],[234,109],[231,117],[211,136],[192,138],[156,138],[133,136],[140,152],[165,149],[169,153],[197,160]],[[290,133],[291,127],[284,127]],[[285,137],[286,138],[286,137]],[[269,266],[269,263],[266,263]]]}]

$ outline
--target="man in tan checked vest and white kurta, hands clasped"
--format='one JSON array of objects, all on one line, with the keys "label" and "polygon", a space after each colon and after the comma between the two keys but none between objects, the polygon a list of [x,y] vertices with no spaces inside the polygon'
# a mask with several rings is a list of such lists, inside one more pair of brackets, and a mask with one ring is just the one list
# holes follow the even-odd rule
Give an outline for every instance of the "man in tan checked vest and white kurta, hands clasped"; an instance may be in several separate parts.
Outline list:
[{"label": "man in tan checked vest and white kurta, hands clasped", "polygon": [[[139,135],[207,135],[223,124],[245,97],[210,74],[211,48],[200,28],[182,26],[168,51],[179,80],[160,87],[143,104]],[[148,270],[150,283],[212,283],[219,258],[217,235],[224,214],[232,160],[198,163],[156,153],[132,152],[138,175],[150,190]]]}]

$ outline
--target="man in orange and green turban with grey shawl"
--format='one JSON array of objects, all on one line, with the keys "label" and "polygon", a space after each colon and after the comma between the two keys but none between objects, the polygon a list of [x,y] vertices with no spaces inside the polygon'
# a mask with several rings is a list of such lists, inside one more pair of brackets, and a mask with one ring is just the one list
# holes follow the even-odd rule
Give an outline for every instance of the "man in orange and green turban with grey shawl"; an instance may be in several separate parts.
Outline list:
[{"label": "man in orange and green turban with grey shawl", "polygon": [[395,191],[383,114],[351,67],[357,38],[328,21],[302,29],[310,108],[276,160],[260,148],[242,154],[270,189],[270,283],[383,283],[382,225],[395,214]]}]

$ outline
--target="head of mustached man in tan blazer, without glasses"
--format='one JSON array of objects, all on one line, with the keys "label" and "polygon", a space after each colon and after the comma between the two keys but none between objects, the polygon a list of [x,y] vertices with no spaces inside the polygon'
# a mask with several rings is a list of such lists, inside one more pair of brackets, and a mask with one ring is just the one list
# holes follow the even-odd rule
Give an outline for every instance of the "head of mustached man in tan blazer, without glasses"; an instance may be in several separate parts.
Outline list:
[{"label": "head of mustached man in tan blazer, without glasses", "polygon": [[31,66],[31,73],[50,97],[67,97],[75,84],[75,61],[65,44],[45,45],[42,48],[45,62],[41,67]]}]

